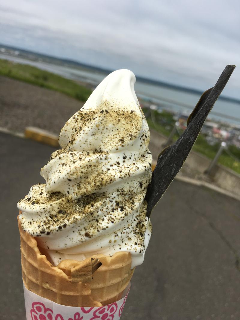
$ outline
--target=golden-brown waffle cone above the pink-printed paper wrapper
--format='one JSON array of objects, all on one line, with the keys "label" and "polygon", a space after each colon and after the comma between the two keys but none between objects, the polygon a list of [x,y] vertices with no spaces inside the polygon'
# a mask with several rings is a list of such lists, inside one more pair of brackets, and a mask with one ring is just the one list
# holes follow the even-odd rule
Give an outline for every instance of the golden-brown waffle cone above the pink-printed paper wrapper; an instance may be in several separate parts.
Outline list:
[{"label": "golden-brown waffle cone above the pink-printed paper wrapper", "polygon": [[[73,283],[61,269],[41,254],[36,239],[23,231],[19,221],[22,277],[26,288],[56,303],[73,307],[98,307],[121,299],[134,269],[131,254],[116,252],[112,257],[94,255],[102,266],[89,283]],[[71,260],[69,260],[71,261]]]}]

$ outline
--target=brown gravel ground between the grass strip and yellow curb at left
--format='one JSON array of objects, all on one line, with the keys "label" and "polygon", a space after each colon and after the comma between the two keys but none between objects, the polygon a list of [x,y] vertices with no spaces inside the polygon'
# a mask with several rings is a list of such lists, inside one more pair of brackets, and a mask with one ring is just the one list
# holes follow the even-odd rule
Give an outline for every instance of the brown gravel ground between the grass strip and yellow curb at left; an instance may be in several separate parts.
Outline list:
[{"label": "brown gravel ground between the grass strip and yellow curb at left", "polygon": [[60,92],[0,76],[0,127],[24,132],[27,126],[59,134],[83,106]]}]

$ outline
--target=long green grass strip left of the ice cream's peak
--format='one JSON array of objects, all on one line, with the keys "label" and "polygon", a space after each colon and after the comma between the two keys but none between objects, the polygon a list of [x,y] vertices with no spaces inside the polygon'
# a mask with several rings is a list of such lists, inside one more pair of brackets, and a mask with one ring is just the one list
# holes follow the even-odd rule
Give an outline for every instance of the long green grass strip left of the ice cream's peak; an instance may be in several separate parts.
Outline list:
[{"label": "long green grass strip left of the ice cream's peak", "polygon": [[0,75],[62,92],[80,101],[86,101],[92,91],[75,81],[40,70],[36,67],[0,59]]}]

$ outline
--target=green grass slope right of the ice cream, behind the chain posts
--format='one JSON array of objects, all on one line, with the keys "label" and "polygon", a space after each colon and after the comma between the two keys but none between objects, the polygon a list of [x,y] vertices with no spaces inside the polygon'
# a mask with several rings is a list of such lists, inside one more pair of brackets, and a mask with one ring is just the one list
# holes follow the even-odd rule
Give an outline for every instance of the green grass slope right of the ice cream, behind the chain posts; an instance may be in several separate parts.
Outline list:
[{"label": "green grass slope right of the ice cream, behind the chain posts", "polygon": [[[147,109],[143,109],[143,111],[146,115],[149,128],[155,129],[156,131],[164,134],[165,136],[168,136],[170,134],[175,124],[175,121],[172,119],[171,113],[164,111],[159,114],[157,111],[152,111],[151,117]],[[176,141],[178,138],[179,135],[175,134],[173,140]],[[220,143],[210,146],[207,143],[204,135],[200,133],[193,146],[193,150],[201,153],[204,156],[207,156],[210,159],[213,159],[219,147]],[[221,156],[219,157],[218,163],[232,169],[237,173],[240,173],[240,161],[237,161],[237,159],[240,159],[240,150],[235,146],[228,146],[228,150],[235,158],[229,156],[227,152],[224,150]]]}]

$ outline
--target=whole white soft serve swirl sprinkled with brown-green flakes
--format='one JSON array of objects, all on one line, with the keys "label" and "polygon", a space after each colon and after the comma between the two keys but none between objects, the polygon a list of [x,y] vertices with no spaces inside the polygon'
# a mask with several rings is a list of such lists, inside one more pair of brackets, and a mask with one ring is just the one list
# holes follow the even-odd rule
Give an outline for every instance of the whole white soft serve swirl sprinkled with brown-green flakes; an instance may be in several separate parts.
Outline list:
[{"label": "whole white soft serve swirl sprinkled with brown-green flakes", "polygon": [[94,254],[143,262],[151,236],[144,201],[151,180],[149,129],[129,70],[108,75],[62,128],[60,150],[18,208],[22,229],[53,265]]}]

